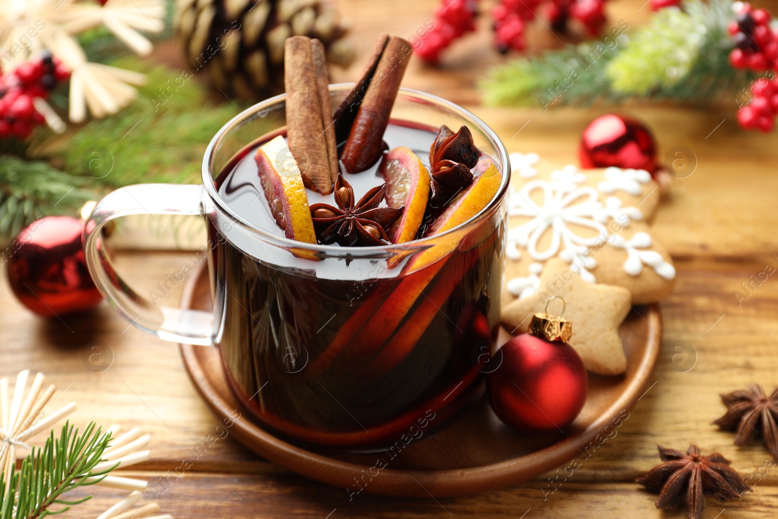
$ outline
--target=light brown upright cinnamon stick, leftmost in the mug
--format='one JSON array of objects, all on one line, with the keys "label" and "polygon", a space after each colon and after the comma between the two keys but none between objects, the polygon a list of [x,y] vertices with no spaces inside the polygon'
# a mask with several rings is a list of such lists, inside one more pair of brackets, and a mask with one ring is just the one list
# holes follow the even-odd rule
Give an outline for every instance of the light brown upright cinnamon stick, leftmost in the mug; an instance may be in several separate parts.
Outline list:
[{"label": "light brown upright cinnamon stick, leftmost in the mug", "polygon": [[327,139],[324,139],[313,46],[310,38],[304,36],[288,38],[285,46],[286,137],[289,151],[300,167],[305,187],[329,195],[333,182]]}]

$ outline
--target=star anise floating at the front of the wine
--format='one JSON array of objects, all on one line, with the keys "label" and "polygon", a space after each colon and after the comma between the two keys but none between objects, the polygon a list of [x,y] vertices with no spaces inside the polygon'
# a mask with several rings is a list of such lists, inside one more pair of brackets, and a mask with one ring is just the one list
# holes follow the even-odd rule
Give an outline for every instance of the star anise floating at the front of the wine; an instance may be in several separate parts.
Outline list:
[{"label": "star anise floating at the front of the wine", "polygon": [[386,191],[387,184],[382,184],[367,191],[359,202],[354,203],[351,184],[338,174],[335,181],[337,207],[321,203],[310,206],[319,241],[324,245],[337,243],[343,247],[391,243],[386,231],[402,214],[403,208],[378,207]]}]

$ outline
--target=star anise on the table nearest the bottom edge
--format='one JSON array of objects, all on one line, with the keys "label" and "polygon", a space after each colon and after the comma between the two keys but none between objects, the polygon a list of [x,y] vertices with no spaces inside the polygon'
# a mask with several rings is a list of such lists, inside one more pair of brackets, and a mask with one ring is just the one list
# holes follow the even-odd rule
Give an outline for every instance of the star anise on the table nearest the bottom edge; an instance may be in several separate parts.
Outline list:
[{"label": "star anise on the table nearest the bottom edge", "polygon": [[704,494],[724,503],[751,490],[721,454],[703,456],[692,444],[686,454],[660,446],[659,456],[664,463],[636,479],[650,492],[659,493],[659,509],[685,504],[689,519],[699,519],[705,511]]}]

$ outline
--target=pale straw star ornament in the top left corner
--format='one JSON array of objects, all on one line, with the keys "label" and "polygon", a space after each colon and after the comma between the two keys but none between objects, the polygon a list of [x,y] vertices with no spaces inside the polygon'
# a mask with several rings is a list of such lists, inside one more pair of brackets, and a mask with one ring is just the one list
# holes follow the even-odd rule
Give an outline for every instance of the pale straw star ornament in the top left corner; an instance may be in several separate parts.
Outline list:
[{"label": "pale straw star ornament in the top left corner", "polygon": [[[50,51],[69,71],[69,118],[73,122],[115,114],[138,95],[134,86],[145,76],[123,68],[90,62],[74,35],[104,26],[137,54],[149,54],[152,43],[142,35],[163,32],[163,0],[0,0],[0,68],[12,71],[32,54]],[[36,108],[54,130],[63,131],[54,110],[40,98]]]}]

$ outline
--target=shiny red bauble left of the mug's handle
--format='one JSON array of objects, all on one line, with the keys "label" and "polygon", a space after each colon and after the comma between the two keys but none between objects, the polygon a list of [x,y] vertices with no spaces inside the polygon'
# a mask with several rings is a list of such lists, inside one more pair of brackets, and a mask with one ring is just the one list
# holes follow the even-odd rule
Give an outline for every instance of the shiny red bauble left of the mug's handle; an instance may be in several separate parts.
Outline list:
[{"label": "shiny red bauble left of the mug's handle", "polygon": [[103,299],[86,269],[84,223],[70,216],[46,216],[26,226],[11,242],[8,280],[21,303],[43,317],[96,307]]}]

